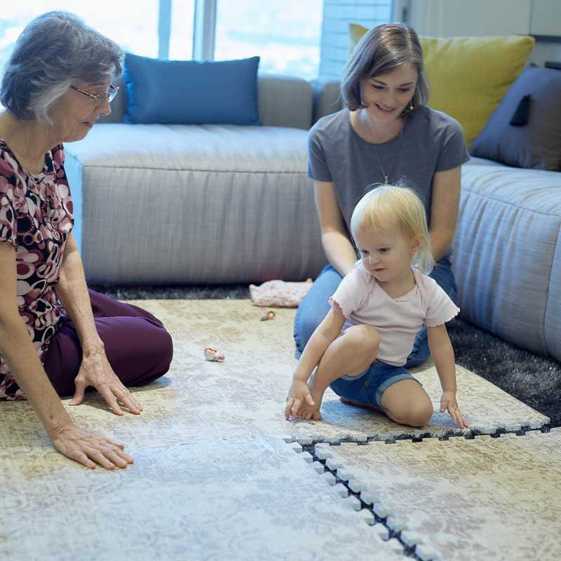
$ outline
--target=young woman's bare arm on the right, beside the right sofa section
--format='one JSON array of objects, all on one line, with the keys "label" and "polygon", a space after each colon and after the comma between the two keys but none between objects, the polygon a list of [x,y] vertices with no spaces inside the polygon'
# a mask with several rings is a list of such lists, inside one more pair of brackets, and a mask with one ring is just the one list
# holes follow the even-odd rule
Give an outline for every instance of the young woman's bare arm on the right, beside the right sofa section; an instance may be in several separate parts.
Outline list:
[{"label": "young woman's bare arm on the right, beside the right sofa section", "polygon": [[460,201],[460,167],[435,173],[431,203],[431,248],[438,261],[454,239]]}]

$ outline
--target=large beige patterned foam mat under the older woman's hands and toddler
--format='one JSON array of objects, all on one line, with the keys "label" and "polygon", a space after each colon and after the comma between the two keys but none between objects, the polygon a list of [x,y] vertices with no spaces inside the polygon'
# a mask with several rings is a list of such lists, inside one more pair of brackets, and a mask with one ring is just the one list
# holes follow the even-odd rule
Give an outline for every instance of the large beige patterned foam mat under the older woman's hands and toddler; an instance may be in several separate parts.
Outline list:
[{"label": "large beige patterned foam mat under the older woman's hands and toddler", "polygon": [[[260,321],[264,309],[247,300],[135,304],[163,320],[175,346],[170,372],[133,389],[144,405],[142,415],[116,417],[96,393],[87,394],[79,407],[64,402],[79,426],[124,442],[135,464],[116,473],[88,471],[52,449],[28,403],[1,403],[0,557],[421,558],[399,532],[382,525],[387,525],[383,517],[363,508],[367,503],[356,496],[342,499],[337,493],[346,494],[346,487],[325,485],[335,478],[316,474],[308,465],[311,456],[295,454],[290,448],[299,445],[287,442],[459,434],[447,415],[435,413],[429,426],[409,429],[344,405],[328,391],[324,421],[285,421],[283,406],[296,364],[294,310],[280,309],[274,320]],[[225,362],[204,360],[207,346],[224,351]],[[436,402],[440,391],[432,365],[416,375]],[[472,424],[464,431],[468,435],[474,429],[500,433],[548,423],[466,369],[458,369],[458,379],[459,399]],[[426,442],[447,445],[436,438]],[[325,469],[317,462],[314,467]],[[520,492],[525,489],[522,485]],[[368,528],[364,520],[377,523]]]}]

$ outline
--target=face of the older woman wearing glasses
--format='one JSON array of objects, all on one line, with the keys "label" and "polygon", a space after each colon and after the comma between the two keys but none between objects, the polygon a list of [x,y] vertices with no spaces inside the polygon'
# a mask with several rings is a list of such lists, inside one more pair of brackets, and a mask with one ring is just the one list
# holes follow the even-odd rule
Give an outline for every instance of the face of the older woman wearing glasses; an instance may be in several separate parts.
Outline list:
[{"label": "face of the older woman wearing glasses", "polygon": [[[109,88],[109,79],[100,83],[88,83],[80,80],[72,84],[84,92],[96,95],[104,94]],[[111,107],[107,97],[97,101],[85,93],[69,88],[56,100],[50,110],[57,133],[62,135],[62,142],[74,142],[85,137],[100,116],[109,115]]]}]

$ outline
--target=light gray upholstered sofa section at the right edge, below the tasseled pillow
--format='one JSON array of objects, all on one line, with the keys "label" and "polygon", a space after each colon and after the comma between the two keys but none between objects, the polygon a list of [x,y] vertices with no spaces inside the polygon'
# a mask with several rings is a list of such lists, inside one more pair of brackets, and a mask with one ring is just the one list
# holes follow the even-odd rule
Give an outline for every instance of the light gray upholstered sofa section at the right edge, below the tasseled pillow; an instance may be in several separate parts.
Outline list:
[{"label": "light gray upholstered sofa section at the right edge, below the tasseled pillow", "polygon": [[561,173],[466,165],[453,270],[462,317],[561,358]]}]

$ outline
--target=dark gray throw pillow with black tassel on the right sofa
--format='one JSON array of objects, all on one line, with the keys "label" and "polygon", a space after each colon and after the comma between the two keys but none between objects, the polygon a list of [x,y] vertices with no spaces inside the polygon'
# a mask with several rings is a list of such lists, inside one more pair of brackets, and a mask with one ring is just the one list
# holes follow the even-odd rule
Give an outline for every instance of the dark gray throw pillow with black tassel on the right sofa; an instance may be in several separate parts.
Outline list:
[{"label": "dark gray throw pillow with black tassel on the right sofa", "polygon": [[516,168],[561,170],[561,72],[525,69],[473,141],[471,154]]}]

